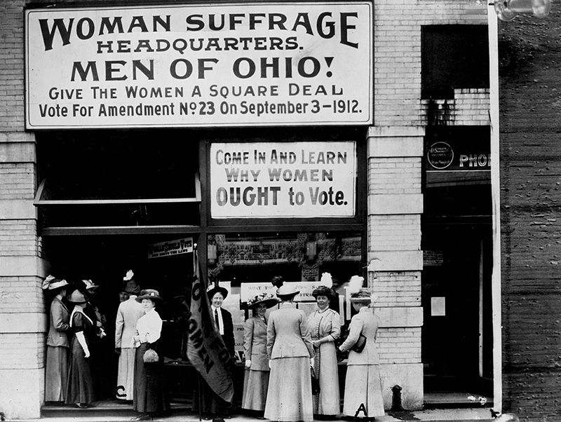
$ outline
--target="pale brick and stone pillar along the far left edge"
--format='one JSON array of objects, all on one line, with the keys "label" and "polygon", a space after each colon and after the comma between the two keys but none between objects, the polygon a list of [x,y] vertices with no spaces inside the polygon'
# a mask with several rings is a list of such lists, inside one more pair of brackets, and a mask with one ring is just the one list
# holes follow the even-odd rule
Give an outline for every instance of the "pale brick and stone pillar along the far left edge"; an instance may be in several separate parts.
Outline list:
[{"label": "pale brick and stone pillar along the far left edge", "polygon": [[0,411],[39,417],[46,316],[34,135],[24,132],[24,1],[0,2]]}]

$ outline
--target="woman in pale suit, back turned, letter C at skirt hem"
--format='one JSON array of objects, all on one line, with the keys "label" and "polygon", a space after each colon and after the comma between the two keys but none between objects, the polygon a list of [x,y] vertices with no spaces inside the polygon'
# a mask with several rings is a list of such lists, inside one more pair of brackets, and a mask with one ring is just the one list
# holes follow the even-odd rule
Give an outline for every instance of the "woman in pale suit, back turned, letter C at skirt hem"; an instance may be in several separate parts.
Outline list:
[{"label": "woman in pale suit, back turned, letter C at skirt hem", "polygon": [[133,336],[136,332],[136,323],[144,315],[144,310],[136,300],[140,293],[140,285],[137,285],[134,280],[132,270],[127,272],[123,281],[126,283],[123,291],[128,295],[128,299],[119,304],[115,320],[115,353],[119,354],[116,397],[121,400],[133,400],[135,376]]}]

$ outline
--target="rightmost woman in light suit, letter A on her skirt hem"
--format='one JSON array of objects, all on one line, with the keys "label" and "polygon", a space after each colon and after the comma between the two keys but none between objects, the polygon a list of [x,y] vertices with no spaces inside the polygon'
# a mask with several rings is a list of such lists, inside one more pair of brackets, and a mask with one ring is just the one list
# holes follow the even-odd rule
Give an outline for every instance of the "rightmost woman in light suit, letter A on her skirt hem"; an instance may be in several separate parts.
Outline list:
[{"label": "rightmost woman in light suit, letter A on her skirt hem", "polygon": [[[385,414],[375,343],[380,320],[369,307],[370,303],[368,289],[351,294],[351,304],[358,313],[351,319],[349,336],[339,346],[342,352],[351,350],[346,368],[343,414],[368,419]],[[353,346],[363,341],[366,344],[362,351],[353,350]]]}]

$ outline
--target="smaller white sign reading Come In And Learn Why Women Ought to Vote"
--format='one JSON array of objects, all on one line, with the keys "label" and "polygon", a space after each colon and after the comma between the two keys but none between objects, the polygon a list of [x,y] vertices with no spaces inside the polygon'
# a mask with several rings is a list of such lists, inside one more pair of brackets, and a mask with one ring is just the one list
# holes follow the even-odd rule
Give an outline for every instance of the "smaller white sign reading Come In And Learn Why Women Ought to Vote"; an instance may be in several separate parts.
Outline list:
[{"label": "smaller white sign reading Come In And Learn Why Women Ought to Vote", "polygon": [[213,143],[213,218],[353,217],[354,142]]}]

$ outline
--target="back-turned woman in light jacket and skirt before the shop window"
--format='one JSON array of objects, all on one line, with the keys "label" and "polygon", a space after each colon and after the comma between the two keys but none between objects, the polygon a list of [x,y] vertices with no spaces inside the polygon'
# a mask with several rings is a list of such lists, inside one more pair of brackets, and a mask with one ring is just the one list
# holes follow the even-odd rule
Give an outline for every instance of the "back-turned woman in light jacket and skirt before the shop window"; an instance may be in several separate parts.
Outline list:
[{"label": "back-turned woman in light jacket and skirt before the shop window", "polygon": [[276,295],[280,308],[271,312],[267,322],[267,355],[271,374],[264,417],[271,421],[313,421],[310,364],[313,346],[304,311],[295,308],[294,287],[282,285]]}]

